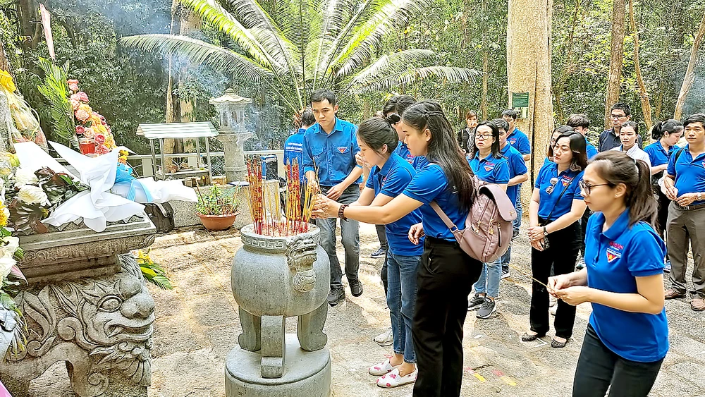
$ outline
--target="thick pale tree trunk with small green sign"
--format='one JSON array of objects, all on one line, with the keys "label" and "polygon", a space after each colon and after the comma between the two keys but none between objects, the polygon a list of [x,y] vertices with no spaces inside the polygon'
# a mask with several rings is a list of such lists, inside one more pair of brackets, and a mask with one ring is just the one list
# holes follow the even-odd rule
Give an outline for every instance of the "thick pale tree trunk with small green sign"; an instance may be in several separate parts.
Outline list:
[{"label": "thick pale tree trunk with small green sign", "polygon": [[[528,204],[534,176],[544,163],[553,130],[551,102],[551,15],[553,0],[509,0],[507,77],[509,107],[513,92],[529,92],[527,118],[517,120],[532,144],[530,183],[524,183],[522,204]],[[532,23],[527,23],[527,21]],[[527,60],[532,60],[531,62]]]}]

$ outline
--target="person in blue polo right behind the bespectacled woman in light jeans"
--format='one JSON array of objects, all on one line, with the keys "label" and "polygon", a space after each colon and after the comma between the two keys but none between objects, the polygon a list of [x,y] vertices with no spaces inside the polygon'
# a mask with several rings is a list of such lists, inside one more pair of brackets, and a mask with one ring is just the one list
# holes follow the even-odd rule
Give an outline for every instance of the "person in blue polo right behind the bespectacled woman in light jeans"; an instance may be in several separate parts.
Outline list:
[{"label": "person in blue polo right behind the bespectacled woman in light jeans", "polygon": [[[509,163],[509,183],[507,183],[507,195],[509,200],[514,204],[514,208],[521,208],[521,205],[517,205],[517,196],[520,194],[519,187],[522,182],[529,180],[529,170],[527,169],[526,161],[522,157],[522,154],[509,145],[507,142],[507,130],[509,129],[509,123],[507,123],[502,118],[495,118],[492,123],[499,129],[499,150],[502,157],[507,159]],[[520,214],[520,210],[517,209],[517,214]],[[506,279],[510,276],[509,272],[509,262],[512,259],[512,245],[510,243],[507,252],[502,255],[502,279]]]}]

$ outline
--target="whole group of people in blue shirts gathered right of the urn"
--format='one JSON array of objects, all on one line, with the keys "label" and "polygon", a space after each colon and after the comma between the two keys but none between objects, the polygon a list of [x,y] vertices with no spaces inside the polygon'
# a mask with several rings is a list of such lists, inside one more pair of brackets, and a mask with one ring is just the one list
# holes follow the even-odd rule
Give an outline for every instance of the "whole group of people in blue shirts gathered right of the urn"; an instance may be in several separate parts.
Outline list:
[{"label": "whole group of people in blue shirts gathered right of the urn", "polygon": [[[520,183],[528,176],[526,154],[515,145],[526,135],[521,137],[506,120],[515,121],[516,114],[507,113],[478,123],[465,153],[438,103],[404,97],[394,97],[394,106],[386,106],[383,117],[355,127],[335,116],[333,92],[314,92],[317,123],[301,134],[300,156],[307,180],[321,190],[314,215],[321,226],[321,245],[331,257],[329,304],[345,299],[335,251],[336,219],[341,219],[345,274],[353,295],[362,293],[357,222],[385,225],[383,279],[394,354],[369,367],[376,384],[413,383],[415,396],[459,396],[468,307],[474,304],[479,318],[496,310],[503,261],[483,264],[467,255],[431,203],[453,224],[465,224],[474,197],[473,175],[501,185],[517,202]],[[668,351],[666,245],[658,233],[660,213],[651,177],[652,170],[664,171],[663,163],[651,161],[649,166],[622,150],[597,154],[584,135],[589,119],[574,115],[569,121],[569,126],[552,131],[550,161],[537,174],[529,204],[534,281],[530,327],[522,341],[547,334],[549,295],[558,298],[554,348],[565,346],[572,336],[575,305],[590,302],[593,312],[573,396],[604,396],[608,388],[611,396],[646,396]],[[699,212],[701,198],[695,191],[705,194],[705,170],[697,169],[705,167],[704,124],[705,115],[687,119],[691,148],[678,159],[677,152],[670,150],[668,157],[669,149],[664,149],[669,165],[663,195],[680,207],[671,212]],[[663,135],[672,134],[669,126],[659,127]],[[360,191],[357,183],[363,175]],[[688,202],[691,194],[694,200]],[[587,208],[593,212],[589,220]],[[580,250],[585,267],[575,271]]]}]

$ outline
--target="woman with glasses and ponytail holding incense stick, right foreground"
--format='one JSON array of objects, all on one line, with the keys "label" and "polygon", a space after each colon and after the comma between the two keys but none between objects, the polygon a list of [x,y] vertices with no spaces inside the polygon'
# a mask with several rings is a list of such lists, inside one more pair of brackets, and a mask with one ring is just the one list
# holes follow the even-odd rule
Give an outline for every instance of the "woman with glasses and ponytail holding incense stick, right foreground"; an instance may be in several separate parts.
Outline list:
[{"label": "woman with glasses and ponytail holding incense stick, right foreground", "polygon": [[551,294],[592,306],[575,369],[573,397],[646,397],[668,352],[663,307],[666,247],[654,231],[649,166],[603,152],[580,189],[595,212],[585,236],[585,269],[551,277]]}]

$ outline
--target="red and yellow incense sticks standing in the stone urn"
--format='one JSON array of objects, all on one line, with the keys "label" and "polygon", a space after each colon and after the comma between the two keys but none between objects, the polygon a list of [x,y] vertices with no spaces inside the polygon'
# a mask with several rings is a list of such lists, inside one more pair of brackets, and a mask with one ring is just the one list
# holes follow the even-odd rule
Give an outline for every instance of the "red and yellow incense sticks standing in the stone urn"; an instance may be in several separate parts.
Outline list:
[{"label": "red and yellow incense sticks standing in the stone urn", "polygon": [[[250,183],[250,215],[255,233],[264,236],[294,236],[309,230],[309,221],[315,200],[314,183],[301,186],[301,170],[298,160],[285,164],[287,195],[284,203],[284,219],[278,189],[267,188],[262,180],[262,159],[252,157],[247,161],[247,182]],[[304,195],[303,200],[301,195]]]}]

